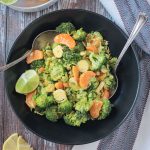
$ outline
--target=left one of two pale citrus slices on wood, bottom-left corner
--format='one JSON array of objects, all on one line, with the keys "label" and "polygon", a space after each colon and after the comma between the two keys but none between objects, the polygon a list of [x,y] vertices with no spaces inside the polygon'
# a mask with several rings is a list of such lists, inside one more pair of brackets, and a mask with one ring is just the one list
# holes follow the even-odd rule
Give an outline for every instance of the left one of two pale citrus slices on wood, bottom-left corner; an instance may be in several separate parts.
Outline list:
[{"label": "left one of two pale citrus slices on wood, bottom-left corner", "polygon": [[3,144],[3,150],[17,150],[18,134],[12,134]]}]

